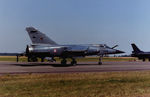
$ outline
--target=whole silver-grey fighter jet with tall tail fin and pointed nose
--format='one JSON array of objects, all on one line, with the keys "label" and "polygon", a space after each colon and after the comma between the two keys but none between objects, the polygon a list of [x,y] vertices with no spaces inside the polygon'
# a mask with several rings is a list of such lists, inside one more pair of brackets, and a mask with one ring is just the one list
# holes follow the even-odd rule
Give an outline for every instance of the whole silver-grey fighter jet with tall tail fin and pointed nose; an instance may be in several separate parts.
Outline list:
[{"label": "whole silver-grey fighter jet with tall tail fin and pointed nose", "polygon": [[98,64],[102,64],[101,57],[106,54],[120,54],[123,51],[116,50],[114,47],[108,47],[105,44],[85,44],[85,45],[59,45],[42,32],[33,27],[27,27],[31,45],[27,45],[25,56],[28,57],[28,62],[36,62],[37,58],[41,58],[41,62],[49,57],[55,61],[55,57],[61,58],[61,64],[66,64],[66,58],[71,58],[72,65],[77,64],[77,57],[85,57],[91,55],[99,56]]}]

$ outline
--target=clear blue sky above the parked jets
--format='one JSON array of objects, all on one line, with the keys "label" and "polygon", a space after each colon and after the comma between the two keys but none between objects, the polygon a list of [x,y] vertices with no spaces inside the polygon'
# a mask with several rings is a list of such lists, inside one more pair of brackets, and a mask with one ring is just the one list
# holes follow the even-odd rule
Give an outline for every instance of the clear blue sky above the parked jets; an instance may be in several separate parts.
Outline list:
[{"label": "clear blue sky above the parked jets", "polygon": [[150,0],[0,0],[0,52],[23,52],[33,26],[58,44],[131,43],[150,51]]}]

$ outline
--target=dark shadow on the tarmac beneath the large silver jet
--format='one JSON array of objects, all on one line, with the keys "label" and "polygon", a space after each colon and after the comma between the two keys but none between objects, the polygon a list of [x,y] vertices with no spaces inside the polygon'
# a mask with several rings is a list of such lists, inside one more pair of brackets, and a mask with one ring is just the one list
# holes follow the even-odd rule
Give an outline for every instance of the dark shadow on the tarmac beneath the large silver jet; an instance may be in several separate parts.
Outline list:
[{"label": "dark shadow on the tarmac beneath the large silver jet", "polygon": [[[65,64],[65,65],[62,65],[62,64],[52,64],[52,63],[16,63],[16,64],[13,64],[13,65],[16,65],[16,66],[23,66],[23,67],[32,67],[32,66],[53,66],[53,67],[70,67],[70,66],[74,66],[74,65],[71,65],[71,64]],[[77,64],[77,65],[82,65],[82,66],[86,66],[86,65],[98,65],[98,64]],[[77,66],[75,65],[75,66]]]}]

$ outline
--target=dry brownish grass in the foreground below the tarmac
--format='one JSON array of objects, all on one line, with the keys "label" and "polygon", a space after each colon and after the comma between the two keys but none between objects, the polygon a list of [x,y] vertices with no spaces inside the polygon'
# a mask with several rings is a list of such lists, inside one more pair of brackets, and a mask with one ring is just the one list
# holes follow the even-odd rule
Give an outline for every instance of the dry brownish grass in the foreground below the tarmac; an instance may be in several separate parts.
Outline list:
[{"label": "dry brownish grass in the foreground below the tarmac", "polygon": [[150,97],[150,71],[0,76],[0,97]]}]

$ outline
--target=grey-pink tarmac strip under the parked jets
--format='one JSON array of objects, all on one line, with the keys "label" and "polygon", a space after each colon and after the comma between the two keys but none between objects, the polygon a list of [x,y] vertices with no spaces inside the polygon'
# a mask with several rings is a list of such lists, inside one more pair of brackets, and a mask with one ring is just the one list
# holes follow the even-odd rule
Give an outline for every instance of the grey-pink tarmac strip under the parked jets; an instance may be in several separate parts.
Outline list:
[{"label": "grey-pink tarmac strip under the parked jets", "polygon": [[0,75],[26,73],[117,72],[150,70],[150,62],[79,62],[76,66],[59,63],[0,62]]}]

